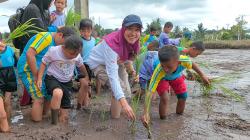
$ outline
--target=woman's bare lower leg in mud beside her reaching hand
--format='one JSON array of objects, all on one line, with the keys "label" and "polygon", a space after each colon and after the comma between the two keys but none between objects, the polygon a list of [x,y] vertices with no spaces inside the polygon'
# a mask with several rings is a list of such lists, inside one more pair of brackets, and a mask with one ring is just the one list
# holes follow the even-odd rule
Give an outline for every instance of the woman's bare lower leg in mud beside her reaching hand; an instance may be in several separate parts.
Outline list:
[{"label": "woman's bare lower leg in mud beside her reaching hand", "polygon": [[113,119],[120,118],[122,107],[121,107],[120,102],[117,101],[114,98],[114,96],[111,97],[111,109],[110,110],[111,110],[111,117]]}]

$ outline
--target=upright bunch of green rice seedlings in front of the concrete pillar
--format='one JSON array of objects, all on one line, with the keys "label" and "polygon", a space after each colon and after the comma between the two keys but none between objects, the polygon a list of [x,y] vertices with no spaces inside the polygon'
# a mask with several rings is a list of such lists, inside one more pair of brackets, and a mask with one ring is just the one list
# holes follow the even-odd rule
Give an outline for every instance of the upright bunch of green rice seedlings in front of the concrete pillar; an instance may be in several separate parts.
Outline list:
[{"label": "upright bunch of green rice seedlings in front of the concrete pillar", "polygon": [[67,15],[65,19],[66,26],[75,26],[76,23],[80,22],[81,20],[81,15],[78,13],[75,13],[72,7],[68,10],[66,15]]}]

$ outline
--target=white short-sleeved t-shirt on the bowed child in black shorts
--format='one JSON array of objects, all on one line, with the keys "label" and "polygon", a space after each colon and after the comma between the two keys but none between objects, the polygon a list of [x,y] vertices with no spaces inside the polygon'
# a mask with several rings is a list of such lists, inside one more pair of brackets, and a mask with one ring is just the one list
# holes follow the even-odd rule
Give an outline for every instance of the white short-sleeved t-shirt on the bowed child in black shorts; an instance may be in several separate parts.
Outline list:
[{"label": "white short-sleeved t-shirt on the bowed child in black shorts", "polygon": [[72,80],[75,66],[81,67],[83,65],[80,54],[74,59],[65,58],[62,46],[51,47],[44,55],[42,62],[48,66],[47,75],[54,76],[63,83]]}]

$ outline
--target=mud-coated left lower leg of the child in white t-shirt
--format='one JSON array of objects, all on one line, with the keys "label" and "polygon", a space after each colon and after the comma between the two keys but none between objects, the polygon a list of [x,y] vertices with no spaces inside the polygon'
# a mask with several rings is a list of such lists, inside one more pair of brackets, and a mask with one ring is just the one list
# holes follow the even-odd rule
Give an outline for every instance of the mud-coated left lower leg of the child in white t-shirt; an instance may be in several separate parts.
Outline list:
[{"label": "mud-coated left lower leg of the child in white t-shirt", "polygon": [[56,88],[53,90],[52,99],[51,99],[51,116],[52,116],[52,124],[57,124],[59,109],[61,106],[61,100],[63,97],[63,91],[60,88]]}]

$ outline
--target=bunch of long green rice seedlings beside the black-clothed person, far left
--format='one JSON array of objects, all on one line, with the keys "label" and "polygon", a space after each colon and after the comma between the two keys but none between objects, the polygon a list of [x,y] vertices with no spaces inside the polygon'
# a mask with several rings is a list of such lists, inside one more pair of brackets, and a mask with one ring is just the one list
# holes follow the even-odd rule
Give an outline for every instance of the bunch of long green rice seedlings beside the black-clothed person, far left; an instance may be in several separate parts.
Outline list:
[{"label": "bunch of long green rice seedlings beside the black-clothed person, far left", "polygon": [[[35,26],[35,24],[32,23],[32,20],[35,20],[36,18],[32,18],[25,23],[19,25],[13,32],[10,33],[9,37],[5,40],[6,43],[10,43],[11,40],[15,38],[19,38],[22,36],[29,36],[29,34],[36,34],[39,33],[39,31],[44,31],[41,28],[38,28]],[[29,30],[32,29],[32,30]]]}]

